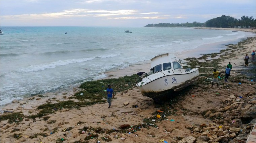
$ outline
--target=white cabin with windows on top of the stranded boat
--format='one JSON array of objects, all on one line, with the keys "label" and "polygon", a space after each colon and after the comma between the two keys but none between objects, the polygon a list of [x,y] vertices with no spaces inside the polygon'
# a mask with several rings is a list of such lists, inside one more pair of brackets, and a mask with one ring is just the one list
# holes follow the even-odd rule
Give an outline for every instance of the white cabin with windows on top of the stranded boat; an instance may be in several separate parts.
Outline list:
[{"label": "white cabin with windows on top of the stranded boat", "polygon": [[150,74],[170,70],[183,68],[179,59],[174,54],[162,54],[157,55],[151,59]]}]

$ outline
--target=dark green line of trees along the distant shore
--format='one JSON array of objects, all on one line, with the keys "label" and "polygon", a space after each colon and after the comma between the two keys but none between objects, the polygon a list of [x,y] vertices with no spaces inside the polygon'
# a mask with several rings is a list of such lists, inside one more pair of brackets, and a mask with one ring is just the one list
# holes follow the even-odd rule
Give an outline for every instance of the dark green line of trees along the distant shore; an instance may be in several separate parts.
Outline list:
[{"label": "dark green line of trees along the distant shore", "polygon": [[158,24],[147,24],[145,27],[237,27],[237,28],[255,28],[256,19],[253,17],[242,16],[241,19],[236,19],[231,16],[222,15],[221,17],[207,20],[204,23],[192,22],[192,23],[158,23]]}]

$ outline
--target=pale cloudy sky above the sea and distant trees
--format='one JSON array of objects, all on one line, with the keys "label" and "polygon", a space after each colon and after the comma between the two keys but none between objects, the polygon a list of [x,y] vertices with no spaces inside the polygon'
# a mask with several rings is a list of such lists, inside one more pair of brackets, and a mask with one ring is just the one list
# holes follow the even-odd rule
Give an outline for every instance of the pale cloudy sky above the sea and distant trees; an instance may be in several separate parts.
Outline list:
[{"label": "pale cloudy sky above the sea and distant trees", "polygon": [[1,26],[120,26],[256,18],[256,0],[0,0]]}]

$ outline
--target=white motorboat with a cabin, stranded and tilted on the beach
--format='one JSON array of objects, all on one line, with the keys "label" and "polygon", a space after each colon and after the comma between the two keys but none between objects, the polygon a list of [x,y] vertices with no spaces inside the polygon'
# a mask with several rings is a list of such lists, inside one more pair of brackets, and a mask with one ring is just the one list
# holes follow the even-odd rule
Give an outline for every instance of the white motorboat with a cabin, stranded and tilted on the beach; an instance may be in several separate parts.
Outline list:
[{"label": "white motorboat with a cabin, stranded and tilted on the beach", "polygon": [[174,54],[157,55],[151,61],[149,76],[144,77],[136,86],[143,96],[151,97],[155,102],[171,96],[172,91],[193,84],[199,76],[198,68],[183,68]]}]

